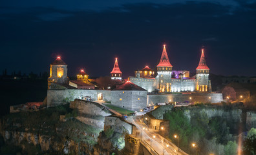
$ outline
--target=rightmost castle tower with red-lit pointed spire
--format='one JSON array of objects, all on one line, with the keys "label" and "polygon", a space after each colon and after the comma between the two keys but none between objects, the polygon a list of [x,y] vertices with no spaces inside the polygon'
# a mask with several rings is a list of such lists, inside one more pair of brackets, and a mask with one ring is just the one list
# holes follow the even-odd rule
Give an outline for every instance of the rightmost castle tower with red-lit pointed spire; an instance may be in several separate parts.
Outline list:
[{"label": "rightmost castle tower with red-lit pointed spire", "polygon": [[204,57],[204,48],[202,48],[202,54],[196,70],[196,90],[198,92],[211,92],[211,87],[209,87],[209,67],[206,65],[206,59]]}]

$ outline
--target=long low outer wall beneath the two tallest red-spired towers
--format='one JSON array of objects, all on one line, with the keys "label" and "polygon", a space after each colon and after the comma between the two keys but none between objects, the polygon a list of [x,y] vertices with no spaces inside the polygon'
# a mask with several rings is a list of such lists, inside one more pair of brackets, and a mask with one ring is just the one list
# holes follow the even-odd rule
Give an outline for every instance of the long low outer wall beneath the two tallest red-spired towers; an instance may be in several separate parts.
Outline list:
[{"label": "long low outer wall beneath the two tallest red-spired towers", "polygon": [[[209,98],[210,97],[210,98]],[[191,98],[191,99],[189,99]],[[219,103],[223,101],[221,93],[191,93],[191,94],[150,94],[147,95],[147,105],[169,102]]]}]

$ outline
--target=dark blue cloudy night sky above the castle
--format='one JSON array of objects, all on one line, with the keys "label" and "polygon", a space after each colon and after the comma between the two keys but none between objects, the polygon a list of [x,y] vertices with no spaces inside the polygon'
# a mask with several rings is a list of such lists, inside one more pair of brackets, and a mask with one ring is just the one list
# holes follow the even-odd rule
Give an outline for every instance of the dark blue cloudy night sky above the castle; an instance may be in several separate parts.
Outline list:
[{"label": "dark blue cloudy night sky above the castle", "polygon": [[166,44],[173,70],[195,72],[200,49],[213,74],[256,76],[256,1],[0,0],[0,71],[123,76],[154,68]]}]

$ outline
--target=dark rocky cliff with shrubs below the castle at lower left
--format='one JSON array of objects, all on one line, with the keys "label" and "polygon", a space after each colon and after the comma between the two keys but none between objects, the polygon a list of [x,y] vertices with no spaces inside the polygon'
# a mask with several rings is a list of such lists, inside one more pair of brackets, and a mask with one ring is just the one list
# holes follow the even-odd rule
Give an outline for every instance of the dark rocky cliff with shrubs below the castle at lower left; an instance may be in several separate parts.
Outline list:
[{"label": "dark rocky cliff with shrubs below the castle at lower left", "polygon": [[[0,121],[4,147],[17,146],[23,154],[111,154],[113,150],[98,145],[103,128],[79,121],[76,119],[79,115],[64,105],[4,116]],[[101,124],[104,122],[104,117],[95,118]],[[86,119],[84,114],[83,119]],[[1,153],[8,152],[2,149]]]}]

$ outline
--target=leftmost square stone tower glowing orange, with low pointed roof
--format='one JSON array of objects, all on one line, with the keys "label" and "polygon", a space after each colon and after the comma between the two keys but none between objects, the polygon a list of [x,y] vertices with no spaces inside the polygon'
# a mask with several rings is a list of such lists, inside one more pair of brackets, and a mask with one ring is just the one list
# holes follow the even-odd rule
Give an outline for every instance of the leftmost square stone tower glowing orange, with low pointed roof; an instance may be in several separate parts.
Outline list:
[{"label": "leftmost square stone tower glowing orange, with low pointed roof", "polygon": [[69,78],[67,77],[67,64],[61,59],[61,57],[57,57],[57,59],[50,64],[48,88],[50,88],[51,83],[69,85]]}]

